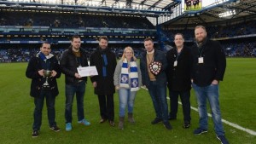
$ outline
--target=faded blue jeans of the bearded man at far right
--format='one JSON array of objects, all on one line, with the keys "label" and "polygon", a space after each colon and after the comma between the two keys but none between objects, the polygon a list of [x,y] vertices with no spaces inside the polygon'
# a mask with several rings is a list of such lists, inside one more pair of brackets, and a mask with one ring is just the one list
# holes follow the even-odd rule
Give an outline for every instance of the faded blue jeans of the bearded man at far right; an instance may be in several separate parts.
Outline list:
[{"label": "faded blue jeans of the bearded man at far right", "polygon": [[218,84],[211,84],[206,87],[199,87],[196,84],[192,84],[195,89],[195,95],[197,98],[198,111],[199,111],[199,124],[200,128],[208,130],[208,116],[207,116],[207,99],[210,103],[212,110],[212,120],[214,124],[214,130],[217,135],[224,135],[224,128],[221,122],[221,113],[219,109],[218,101]]}]

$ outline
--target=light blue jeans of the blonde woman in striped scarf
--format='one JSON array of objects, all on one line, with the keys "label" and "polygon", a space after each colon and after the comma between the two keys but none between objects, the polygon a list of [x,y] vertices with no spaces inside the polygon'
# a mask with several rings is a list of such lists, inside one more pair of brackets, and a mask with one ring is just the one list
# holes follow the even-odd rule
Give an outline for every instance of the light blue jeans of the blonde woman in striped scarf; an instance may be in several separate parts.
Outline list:
[{"label": "light blue jeans of the blonde woman in striped scarf", "polygon": [[125,117],[125,108],[128,104],[128,112],[132,113],[134,100],[137,91],[131,91],[131,89],[119,89],[119,117]]}]

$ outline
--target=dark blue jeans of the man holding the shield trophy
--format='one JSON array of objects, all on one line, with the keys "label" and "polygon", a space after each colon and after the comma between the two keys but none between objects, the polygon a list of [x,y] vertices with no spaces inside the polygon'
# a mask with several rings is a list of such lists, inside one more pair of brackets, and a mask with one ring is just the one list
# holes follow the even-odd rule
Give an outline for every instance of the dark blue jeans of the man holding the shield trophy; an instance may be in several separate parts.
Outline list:
[{"label": "dark blue jeans of the man holding the shield trophy", "polygon": [[168,104],[166,101],[166,85],[157,84],[156,81],[150,81],[148,92],[154,105],[156,118],[168,121]]}]

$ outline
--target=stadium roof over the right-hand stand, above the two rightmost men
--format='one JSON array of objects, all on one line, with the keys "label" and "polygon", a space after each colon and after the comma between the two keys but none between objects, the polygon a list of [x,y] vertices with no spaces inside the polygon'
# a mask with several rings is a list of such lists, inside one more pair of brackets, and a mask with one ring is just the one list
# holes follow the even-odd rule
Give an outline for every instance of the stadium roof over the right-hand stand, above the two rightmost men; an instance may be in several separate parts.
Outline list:
[{"label": "stadium roof over the right-hand stand, above the two rightmost men", "polygon": [[[223,3],[221,3],[223,2]],[[230,0],[212,3],[198,11],[183,12],[165,23],[170,27],[201,25],[229,25],[256,19],[256,0]]]}]

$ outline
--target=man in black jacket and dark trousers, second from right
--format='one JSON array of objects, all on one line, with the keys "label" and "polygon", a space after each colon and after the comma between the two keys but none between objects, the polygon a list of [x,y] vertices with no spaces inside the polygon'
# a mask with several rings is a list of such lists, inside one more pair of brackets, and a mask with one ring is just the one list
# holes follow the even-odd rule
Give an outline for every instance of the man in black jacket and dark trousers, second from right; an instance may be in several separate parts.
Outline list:
[{"label": "man in black jacket and dark trousers, second from right", "polygon": [[168,78],[168,89],[170,96],[171,112],[169,119],[177,118],[178,95],[183,104],[183,128],[190,127],[190,69],[192,66],[191,50],[184,46],[183,34],[177,33],[174,36],[175,48],[167,52],[166,58],[168,68],[166,71]]}]

